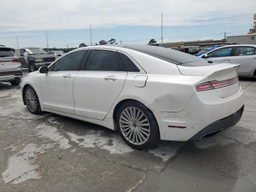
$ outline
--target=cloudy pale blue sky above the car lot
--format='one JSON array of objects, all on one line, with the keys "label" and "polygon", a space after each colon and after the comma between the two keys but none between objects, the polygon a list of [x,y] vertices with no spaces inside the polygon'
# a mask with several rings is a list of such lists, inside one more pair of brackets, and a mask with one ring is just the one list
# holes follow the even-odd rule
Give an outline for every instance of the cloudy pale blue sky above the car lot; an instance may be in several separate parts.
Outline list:
[{"label": "cloudy pale blue sky above the car lot", "polygon": [[222,39],[246,34],[256,0],[2,0],[0,44],[77,47],[115,38],[122,44]]}]

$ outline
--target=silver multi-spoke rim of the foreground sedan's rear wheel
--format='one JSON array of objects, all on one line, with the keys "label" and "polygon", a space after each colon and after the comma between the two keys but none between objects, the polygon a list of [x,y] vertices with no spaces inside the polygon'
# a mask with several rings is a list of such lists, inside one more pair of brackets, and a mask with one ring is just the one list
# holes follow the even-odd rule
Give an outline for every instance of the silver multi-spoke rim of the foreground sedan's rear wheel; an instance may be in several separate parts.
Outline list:
[{"label": "silver multi-spoke rim of the foreground sedan's rear wheel", "polygon": [[124,138],[135,145],[144,144],[150,136],[148,118],[136,107],[127,107],[122,110],[119,126]]}]

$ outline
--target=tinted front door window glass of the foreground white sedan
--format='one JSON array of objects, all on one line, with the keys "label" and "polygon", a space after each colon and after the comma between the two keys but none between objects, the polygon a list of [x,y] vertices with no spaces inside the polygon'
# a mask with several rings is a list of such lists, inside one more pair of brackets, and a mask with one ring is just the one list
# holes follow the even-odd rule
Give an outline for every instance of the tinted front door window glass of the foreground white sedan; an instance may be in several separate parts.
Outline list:
[{"label": "tinted front door window glass of the foreground white sedan", "polygon": [[64,56],[54,64],[52,71],[76,71],[85,51],[77,51]]}]

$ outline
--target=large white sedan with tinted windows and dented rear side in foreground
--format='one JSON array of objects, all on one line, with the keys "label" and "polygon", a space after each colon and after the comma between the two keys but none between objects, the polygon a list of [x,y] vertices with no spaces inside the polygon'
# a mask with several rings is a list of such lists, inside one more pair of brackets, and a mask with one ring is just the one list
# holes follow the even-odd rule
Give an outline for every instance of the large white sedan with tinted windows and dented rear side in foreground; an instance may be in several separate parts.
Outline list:
[{"label": "large white sedan with tinted windows and dented rear side in foreground", "polygon": [[22,79],[32,114],[48,111],[118,130],[144,149],[234,126],[244,109],[239,65],[147,45],[78,48]]}]

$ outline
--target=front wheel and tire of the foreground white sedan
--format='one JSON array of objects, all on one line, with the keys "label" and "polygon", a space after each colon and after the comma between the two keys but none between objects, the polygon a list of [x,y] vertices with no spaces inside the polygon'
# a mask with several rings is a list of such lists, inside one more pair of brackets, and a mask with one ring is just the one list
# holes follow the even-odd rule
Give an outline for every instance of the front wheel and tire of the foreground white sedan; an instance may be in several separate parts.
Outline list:
[{"label": "front wheel and tire of the foreground white sedan", "polygon": [[30,113],[40,114],[42,112],[38,96],[36,94],[36,91],[32,88],[32,86],[26,87],[24,97],[26,101],[26,106]]}]

